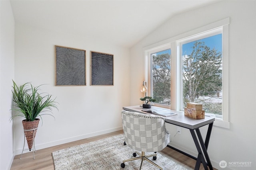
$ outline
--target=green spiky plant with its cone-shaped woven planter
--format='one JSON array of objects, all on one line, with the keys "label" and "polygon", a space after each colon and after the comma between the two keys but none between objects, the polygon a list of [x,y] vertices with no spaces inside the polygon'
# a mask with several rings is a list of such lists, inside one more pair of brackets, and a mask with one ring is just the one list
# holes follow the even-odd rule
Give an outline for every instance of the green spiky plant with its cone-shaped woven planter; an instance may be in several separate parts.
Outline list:
[{"label": "green spiky plant with its cone-shaped woven planter", "polygon": [[[15,106],[12,110],[18,111],[18,113],[13,115],[10,120],[17,116],[25,118],[22,121],[22,125],[24,127],[28,149],[31,151],[38,123],[40,121],[37,117],[42,119],[42,115],[51,115],[52,108],[58,110],[56,105],[58,103],[55,102],[56,98],[52,99],[52,95],[38,92],[42,85],[34,87],[31,83],[25,83],[21,86],[17,86],[13,80],[12,82],[13,105]],[[50,113],[42,113],[44,111],[50,111]]]}]

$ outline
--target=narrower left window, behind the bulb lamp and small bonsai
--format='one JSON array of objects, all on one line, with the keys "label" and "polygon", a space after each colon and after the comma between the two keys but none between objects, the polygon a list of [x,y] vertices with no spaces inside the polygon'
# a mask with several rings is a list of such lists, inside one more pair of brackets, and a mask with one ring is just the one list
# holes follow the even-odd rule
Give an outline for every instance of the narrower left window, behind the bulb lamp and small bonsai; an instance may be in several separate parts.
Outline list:
[{"label": "narrower left window, behind the bulb lamp and small bonsai", "polygon": [[146,82],[155,106],[170,108],[171,48],[170,43],[146,51]]}]

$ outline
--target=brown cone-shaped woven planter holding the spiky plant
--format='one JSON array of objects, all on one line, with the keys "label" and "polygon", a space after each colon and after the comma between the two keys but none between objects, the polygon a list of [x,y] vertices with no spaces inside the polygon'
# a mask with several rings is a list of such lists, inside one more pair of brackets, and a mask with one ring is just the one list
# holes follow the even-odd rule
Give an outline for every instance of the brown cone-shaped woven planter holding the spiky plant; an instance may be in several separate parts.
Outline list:
[{"label": "brown cone-shaped woven planter holding the spiky plant", "polygon": [[28,149],[31,151],[33,147],[33,141],[36,137],[36,131],[39,124],[40,119],[35,119],[34,121],[22,121],[22,125],[24,128],[24,133],[28,143]]}]

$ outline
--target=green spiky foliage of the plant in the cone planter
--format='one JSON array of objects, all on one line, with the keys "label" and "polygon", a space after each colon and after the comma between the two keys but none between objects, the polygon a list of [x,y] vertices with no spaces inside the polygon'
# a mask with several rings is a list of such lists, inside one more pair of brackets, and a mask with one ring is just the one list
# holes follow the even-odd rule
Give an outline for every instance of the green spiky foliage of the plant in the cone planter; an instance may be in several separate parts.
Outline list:
[{"label": "green spiky foliage of the plant in the cone planter", "polygon": [[[14,106],[18,107],[13,110],[18,111],[18,114],[12,116],[10,120],[14,117],[21,116],[25,117],[26,121],[34,121],[38,116],[51,115],[49,113],[42,113],[44,111],[50,111],[52,113],[52,108],[58,110],[56,105],[58,103],[55,102],[56,98],[52,99],[52,95],[38,92],[42,85],[34,87],[31,83],[25,83],[17,86],[13,80],[12,82]],[[53,115],[51,116],[54,117]]]}]

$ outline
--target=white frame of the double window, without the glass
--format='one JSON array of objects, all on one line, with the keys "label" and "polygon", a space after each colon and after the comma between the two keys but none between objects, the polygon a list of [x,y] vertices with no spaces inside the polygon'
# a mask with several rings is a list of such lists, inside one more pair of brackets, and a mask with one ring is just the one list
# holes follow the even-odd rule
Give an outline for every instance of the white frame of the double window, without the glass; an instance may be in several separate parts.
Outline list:
[{"label": "white frame of the double window, without the glass", "polygon": [[[182,33],[180,35],[177,35],[175,37],[166,39],[164,41],[160,41],[158,43],[152,44],[150,46],[144,47],[143,51],[145,54],[145,80],[146,82],[149,82],[151,80],[151,54],[162,51],[166,47],[171,49],[171,105],[166,107],[162,106],[161,104],[154,104],[155,106],[159,107],[166,107],[170,108],[171,110],[179,110],[180,109],[180,101],[182,98],[182,95],[180,95],[180,92],[182,92],[182,87],[180,86],[180,76],[181,76],[181,63],[180,63],[180,57],[178,58],[178,55],[180,54],[181,48],[180,48],[180,42],[184,39],[189,39],[190,37],[193,38],[194,36],[202,35],[200,36],[200,39],[205,35],[209,37],[208,34],[209,31],[213,30],[219,30],[222,29],[222,90],[223,90],[223,108],[222,108],[222,117],[215,117],[216,121],[214,121],[215,126],[224,127],[229,129],[230,123],[229,123],[229,109],[228,109],[228,87],[229,87],[229,73],[228,73],[228,39],[229,39],[229,23],[230,18],[226,18],[220,21],[216,21],[214,23],[211,23],[209,25],[205,25],[203,27],[199,27],[197,29],[194,29],[192,31],[188,31],[186,33]],[[179,71],[177,71],[179,70]],[[148,83],[148,96],[151,95],[151,87],[150,83]]]}]

